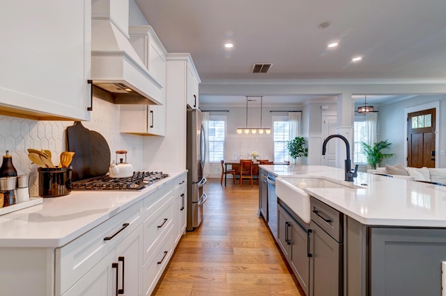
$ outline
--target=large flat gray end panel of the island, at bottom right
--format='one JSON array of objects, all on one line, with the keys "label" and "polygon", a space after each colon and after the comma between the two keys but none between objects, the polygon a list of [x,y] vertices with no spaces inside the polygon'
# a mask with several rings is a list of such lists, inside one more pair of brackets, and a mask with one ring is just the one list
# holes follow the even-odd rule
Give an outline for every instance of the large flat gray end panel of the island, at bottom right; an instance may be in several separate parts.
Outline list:
[{"label": "large flat gray end panel of the island, at bottom right", "polygon": [[446,229],[371,227],[369,233],[369,295],[441,295]]}]

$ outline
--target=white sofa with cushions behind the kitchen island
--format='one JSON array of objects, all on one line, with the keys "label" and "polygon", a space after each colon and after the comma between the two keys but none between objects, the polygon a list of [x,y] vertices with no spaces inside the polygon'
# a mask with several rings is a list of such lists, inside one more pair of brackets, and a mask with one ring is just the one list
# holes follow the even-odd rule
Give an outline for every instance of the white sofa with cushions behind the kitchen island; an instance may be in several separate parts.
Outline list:
[{"label": "white sofa with cushions behind the kitchen island", "polygon": [[403,167],[402,165],[386,165],[376,170],[367,170],[369,174],[385,174],[394,178],[413,181],[427,181],[446,184],[446,168]]}]

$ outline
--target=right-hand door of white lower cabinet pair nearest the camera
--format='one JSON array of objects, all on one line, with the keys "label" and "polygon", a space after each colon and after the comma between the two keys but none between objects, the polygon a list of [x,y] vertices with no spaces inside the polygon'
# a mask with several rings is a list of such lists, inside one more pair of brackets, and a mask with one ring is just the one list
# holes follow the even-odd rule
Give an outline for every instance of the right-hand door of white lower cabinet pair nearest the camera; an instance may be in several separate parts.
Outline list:
[{"label": "right-hand door of white lower cabinet pair nearest the camera", "polygon": [[119,263],[118,289],[121,295],[142,295],[142,229],[142,225],[139,225],[116,247],[115,261]]}]

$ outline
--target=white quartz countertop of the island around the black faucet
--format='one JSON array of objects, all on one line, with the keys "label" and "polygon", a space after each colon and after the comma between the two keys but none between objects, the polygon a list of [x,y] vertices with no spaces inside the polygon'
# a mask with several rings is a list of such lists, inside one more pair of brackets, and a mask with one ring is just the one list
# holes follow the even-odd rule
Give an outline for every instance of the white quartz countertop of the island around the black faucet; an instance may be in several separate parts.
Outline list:
[{"label": "white quartz countertop of the island around the black faucet", "polygon": [[[283,178],[346,184],[344,170],[324,166],[261,166]],[[367,184],[367,185],[365,185]],[[446,187],[358,172],[357,188],[305,188],[312,197],[367,225],[446,227]]]}]

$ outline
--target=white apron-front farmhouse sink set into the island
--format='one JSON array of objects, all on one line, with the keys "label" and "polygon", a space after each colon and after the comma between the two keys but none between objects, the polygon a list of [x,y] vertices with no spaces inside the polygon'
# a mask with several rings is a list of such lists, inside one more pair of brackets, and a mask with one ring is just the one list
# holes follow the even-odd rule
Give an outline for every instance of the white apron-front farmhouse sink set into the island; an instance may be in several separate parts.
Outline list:
[{"label": "white apron-front farmhouse sink set into the island", "polygon": [[[302,182],[303,180],[303,182]],[[343,185],[318,178],[286,178],[276,179],[276,195],[289,206],[304,222],[309,223],[309,195],[300,187],[305,188],[344,188]]]}]

